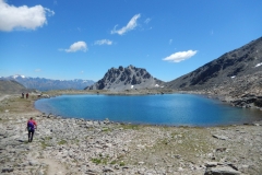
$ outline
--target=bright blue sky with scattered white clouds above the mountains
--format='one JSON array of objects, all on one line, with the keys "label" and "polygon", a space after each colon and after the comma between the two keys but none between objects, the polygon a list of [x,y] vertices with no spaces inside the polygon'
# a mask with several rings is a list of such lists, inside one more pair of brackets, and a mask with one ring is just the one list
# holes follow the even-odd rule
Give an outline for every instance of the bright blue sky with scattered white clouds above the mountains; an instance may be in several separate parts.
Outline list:
[{"label": "bright blue sky with scattered white clouds above the mountains", "polygon": [[0,77],[171,81],[261,36],[261,0],[0,0]]}]

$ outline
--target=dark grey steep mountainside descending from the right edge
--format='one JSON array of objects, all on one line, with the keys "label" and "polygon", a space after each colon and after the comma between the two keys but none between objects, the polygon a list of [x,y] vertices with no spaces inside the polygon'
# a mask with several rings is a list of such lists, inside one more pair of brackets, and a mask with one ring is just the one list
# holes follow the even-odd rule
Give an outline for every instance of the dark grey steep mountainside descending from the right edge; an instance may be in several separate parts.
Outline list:
[{"label": "dark grey steep mountainside descending from the right edge", "polygon": [[[255,77],[254,80],[262,74],[262,37],[168,82],[166,86],[177,90],[205,90],[231,84],[234,88],[235,80],[241,82],[243,78],[243,81],[250,81],[246,78],[252,74]],[[249,86],[260,83],[253,82],[255,84],[249,84]]]}]

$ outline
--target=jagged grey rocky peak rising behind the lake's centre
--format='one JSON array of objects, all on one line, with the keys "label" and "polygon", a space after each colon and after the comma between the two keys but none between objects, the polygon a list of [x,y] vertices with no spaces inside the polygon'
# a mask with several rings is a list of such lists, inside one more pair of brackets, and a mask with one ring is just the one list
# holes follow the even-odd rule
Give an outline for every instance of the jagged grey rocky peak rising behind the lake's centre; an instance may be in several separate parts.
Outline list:
[{"label": "jagged grey rocky peak rising behind the lake's centre", "polygon": [[145,69],[129,66],[109,69],[103,79],[95,84],[87,86],[86,90],[141,90],[160,88],[164,82],[153,78]]}]

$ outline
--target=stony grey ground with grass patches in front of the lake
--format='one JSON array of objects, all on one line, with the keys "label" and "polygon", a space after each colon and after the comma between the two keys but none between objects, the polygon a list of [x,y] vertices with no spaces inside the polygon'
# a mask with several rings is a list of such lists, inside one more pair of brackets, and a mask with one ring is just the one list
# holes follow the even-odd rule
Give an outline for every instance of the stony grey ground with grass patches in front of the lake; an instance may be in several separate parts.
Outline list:
[{"label": "stony grey ground with grass patches in front of the lake", "polygon": [[[262,174],[262,122],[165,127],[61,118],[0,101],[0,174]],[[27,142],[26,121],[38,129]]]}]

